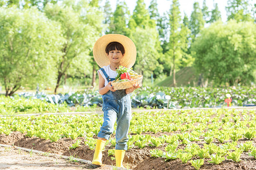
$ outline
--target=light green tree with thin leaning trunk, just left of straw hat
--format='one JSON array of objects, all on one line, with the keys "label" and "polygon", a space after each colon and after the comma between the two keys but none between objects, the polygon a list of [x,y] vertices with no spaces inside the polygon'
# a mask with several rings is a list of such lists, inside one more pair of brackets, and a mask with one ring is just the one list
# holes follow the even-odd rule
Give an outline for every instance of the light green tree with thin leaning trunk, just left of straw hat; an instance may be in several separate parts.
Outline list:
[{"label": "light green tree with thin leaning trunk, just left of straw hat", "polygon": [[[61,25],[65,42],[62,46],[62,57],[57,62],[57,83],[55,93],[61,79],[72,67],[80,63],[84,73],[89,70],[90,50],[102,31],[102,12],[85,1],[65,1],[63,5],[47,5],[45,8],[49,19]],[[97,17],[97,19],[95,19]]]}]

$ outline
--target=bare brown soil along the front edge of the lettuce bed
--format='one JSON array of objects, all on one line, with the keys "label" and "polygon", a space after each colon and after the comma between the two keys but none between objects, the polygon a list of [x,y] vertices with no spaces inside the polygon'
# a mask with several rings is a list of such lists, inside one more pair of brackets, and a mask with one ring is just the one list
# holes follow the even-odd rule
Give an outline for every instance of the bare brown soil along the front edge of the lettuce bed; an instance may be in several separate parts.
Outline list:
[{"label": "bare brown soil along the front edge of the lettuce bed", "polygon": [[[160,134],[160,133],[159,133]],[[159,136],[157,134],[157,136]],[[162,135],[161,133],[160,135]],[[164,133],[168,134],[168,133]],[[150,134],[154,136],[154,134]],[[155,135],[156,136],[156,135]],[[81,139],[81,146],[76,148],[75,150],[69,150],[69,147],[72,146],[76,140],[72,140],[70,138],[61,138],[57,142],[50,142],[49,140],[39,139],[37,137],[28,138],[24,134],[20,132],[13,132],[10,135],[6,136],[5,134],[0,135],[0,143],[6,145],[15,145],[19,147],[25,148],[33,148],[34,150],[50,152],[54,154],[60,154],[65,156],[74,156],[75,158],[85,159],[92,161],[93,159],[93,150],[90,150],[88,146],[84,145],[84,138]],[[218,142],[214,141],[217,145]],[[238,141],[238,144],[244,141]],[[254,138],[254,143],[256,139]],[[201,141],[195,142],[199,146],[203,146]],[[166,144],[167,145],[167,144]],[[158,147],[160,150],[164,150],[164,147]],[[183,146],[179,146],[183,148]],[[112,160],[112,156],[108,156],[108,150],[113,149],[110,147],[110,144],[105,147],[105,151],[103,152],[102,163],[108,165],[115,165],[115,160]],[[130,169],[195,169],[192,167],[191,163],[183,164],[181,160],[171,160],[164,161],[163,158],[151,158],[150,150],[155,149],[155,147],[144,147],[143,149],[138,148],[137,146],[131,148],[126,152],[125,159],[123,160],[123,164],[126,168]],[[204,165],[201,166],[200,169],[256,169],[256,159],[251,156],[248,156],[247,153],[243,152],[241,155],[242,161],[239,163],[235,163],[232,160],[225,160],[219,165],[208,163],[209,159],[205,159]],[[103,167],[97,169],[104,169]]]}]

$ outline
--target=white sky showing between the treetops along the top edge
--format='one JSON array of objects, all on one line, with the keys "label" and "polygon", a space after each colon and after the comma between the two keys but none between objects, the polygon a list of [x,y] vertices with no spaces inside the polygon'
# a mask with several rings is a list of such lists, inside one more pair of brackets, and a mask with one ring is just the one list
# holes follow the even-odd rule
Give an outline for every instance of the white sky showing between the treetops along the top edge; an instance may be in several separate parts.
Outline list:
[{"label": "white sky showing between the treetops along the top edge", "polygon": [[[119,0],[122,1],[122,0]],[[151,0],[144,0],[144,2],[146,3],[146,7],[148,7],[150,5],[150,1]],[[206,0],[206,5],[208,7],[208,10],[212,10],[213,9],[213,3],[217,3],[218,4],[218,10],[220,10],[221,12],[221,18],[222,21],[226,21],[226,10],[225,10],[225,6],[227,5],[227,1],[228,0]],[[116,2],[117,0],[110,0],[111,5],[113,6],[113,11],[115,10],[116,7]],[[125,1],[129,10],[131,11],[131,14],[133,14],[133,10],[137,4],[137,0],[126,0]],[[164,12],[169,11],[170,7],[171,7],[171,2],[170,0],[158,0],[158,12],[160,15],[163,15]],[[193,10],[193,3],[195,2],[199,2],[200,8],[203,7],[203,2],[204,0],[179,0],[180,3],[180,12],[181,15],[184,16],[184,12],[188,15],[188,17],[191,15],[191,12]],[[105,4],[105,0],[102,1],[102,6],[104,6]]]}]

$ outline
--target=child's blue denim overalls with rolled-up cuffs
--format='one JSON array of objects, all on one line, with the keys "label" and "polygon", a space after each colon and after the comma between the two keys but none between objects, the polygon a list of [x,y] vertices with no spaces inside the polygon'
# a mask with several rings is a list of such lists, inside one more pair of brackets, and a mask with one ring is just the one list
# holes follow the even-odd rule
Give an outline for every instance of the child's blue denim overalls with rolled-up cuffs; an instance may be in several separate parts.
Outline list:
[{"label": "child's blue denim overalls with rolled-up cuffs", "polygon": [[[114,78],[109,78],[104,69],[100,69],[106,79],[109,81]],[[131,121],[131,99],[130,95],[126,95],[125,90],[117,90],[115,92],[108,91],[102,95],[104,112],[104,122],[101,126],[98,137],[109,139],[110,134],[114,131],[115,120],[117,120],[117,130],[115,132],[115,149],[127,150],[127,141],[130,121]]]}]

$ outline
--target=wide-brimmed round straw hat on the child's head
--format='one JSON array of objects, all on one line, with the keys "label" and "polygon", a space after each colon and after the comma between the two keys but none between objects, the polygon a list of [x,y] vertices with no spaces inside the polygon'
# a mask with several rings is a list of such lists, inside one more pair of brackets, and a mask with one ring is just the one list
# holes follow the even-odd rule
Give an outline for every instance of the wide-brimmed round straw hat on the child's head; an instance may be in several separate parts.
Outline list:
[{"label": "wide-brimmed round straw hat on the child's head", "polygon": [[98,39],[93,46],[93,57],[98,66],[108,66],[110,64],[109,57],[106,54],[106,46],[113,41],[117,41],[125,48],[125,55],[120,61],[120,65],[130,68],[136,61],[136,46],[133,41],[124,35],[120,34],[107,34]]}]

